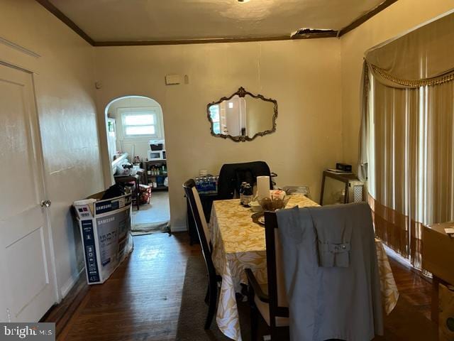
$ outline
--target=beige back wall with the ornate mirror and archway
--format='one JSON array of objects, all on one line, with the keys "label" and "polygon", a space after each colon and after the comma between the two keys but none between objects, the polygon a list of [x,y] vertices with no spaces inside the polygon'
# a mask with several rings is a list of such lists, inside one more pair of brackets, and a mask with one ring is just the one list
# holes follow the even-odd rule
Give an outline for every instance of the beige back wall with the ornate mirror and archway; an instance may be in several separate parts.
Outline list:
[{"label": "beige back wall with the ornate mirror and archway", "polygon": [[[319,200],[323,169],[342,158],[341,60],[335,38],[95,52],[101,116],[111,99],[126,94],[148,96],[162,106],[173,229],[186,227],[182,183],[199,169],[218,173],[223,163],[264,160],[279,175],[279,185],[309,185]],[[188,75],[189,84],[166,86],[167,74]],[[275,134],[245,143],[210,135],[206,104],[240,86],[277,99]]]}]

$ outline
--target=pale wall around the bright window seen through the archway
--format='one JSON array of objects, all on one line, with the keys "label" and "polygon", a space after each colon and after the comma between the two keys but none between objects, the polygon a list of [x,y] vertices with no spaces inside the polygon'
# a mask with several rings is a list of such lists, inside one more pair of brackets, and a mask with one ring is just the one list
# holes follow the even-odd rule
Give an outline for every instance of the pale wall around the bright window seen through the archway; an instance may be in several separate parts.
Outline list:
[{"label": "pale wall around the bright window seen through the archway", "polygon": [[[160,105],[149,98],[140,98],[140,97],[127,97],[123,99],[118,99],[113,102],[108,109],[109,117],[115,119],[116,124],[116,147],[117,151],[128,153],[129,161],[133,160],[133,156],[140,156],[140,159],[148,157],[148,151],[150,150],[150,138],[134,138],[134,139],[125,139],[123,136],[123,124],[121,123],[121,112],[118,109],[133,109],[133,108],[143,108],[143,107],[153,107],[159,113],[160,120],[162,122],[162,112]],[[161,136],[160,139],[164,139],[164,136]],[[133,153],[134,152],[134,153]]]}]

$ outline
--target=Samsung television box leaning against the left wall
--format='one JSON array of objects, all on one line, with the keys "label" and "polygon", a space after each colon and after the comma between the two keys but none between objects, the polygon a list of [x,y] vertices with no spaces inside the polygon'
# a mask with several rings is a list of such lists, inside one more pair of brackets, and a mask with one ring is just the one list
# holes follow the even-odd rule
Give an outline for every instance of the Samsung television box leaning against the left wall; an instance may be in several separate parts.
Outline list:
[{"label": "Samsung television box leaning against the left wall", "polygon": [[104,283],[133,250],[131,193],[74,201],[89,284]]}]

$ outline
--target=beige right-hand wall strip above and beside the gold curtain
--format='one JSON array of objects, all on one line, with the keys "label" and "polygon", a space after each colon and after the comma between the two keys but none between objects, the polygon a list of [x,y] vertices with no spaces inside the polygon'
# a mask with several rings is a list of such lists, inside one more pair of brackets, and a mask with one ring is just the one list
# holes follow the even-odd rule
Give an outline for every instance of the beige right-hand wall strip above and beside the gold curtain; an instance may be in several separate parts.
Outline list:
[{"label": "beige right-hand wall strip above and beside the gold curtain", "polygon": [[360,78],[365,51],[453,8],[453,0],[399,0],[341,38],[345,162],[353,165],[358,163]]}]

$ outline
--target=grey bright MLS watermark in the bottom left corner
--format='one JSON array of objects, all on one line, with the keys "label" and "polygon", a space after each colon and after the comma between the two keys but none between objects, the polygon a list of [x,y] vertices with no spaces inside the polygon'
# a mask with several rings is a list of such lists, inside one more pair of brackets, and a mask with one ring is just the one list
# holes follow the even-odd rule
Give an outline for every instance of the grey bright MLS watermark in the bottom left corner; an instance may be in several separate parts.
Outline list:
[{"label": "grey bright MLS watermark in the bottom left corner", "polygon": [[55,323],[0,323],[0,341],[55,341]]}]

